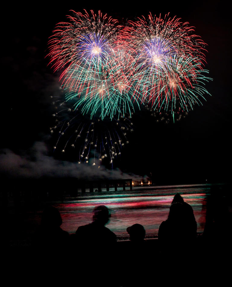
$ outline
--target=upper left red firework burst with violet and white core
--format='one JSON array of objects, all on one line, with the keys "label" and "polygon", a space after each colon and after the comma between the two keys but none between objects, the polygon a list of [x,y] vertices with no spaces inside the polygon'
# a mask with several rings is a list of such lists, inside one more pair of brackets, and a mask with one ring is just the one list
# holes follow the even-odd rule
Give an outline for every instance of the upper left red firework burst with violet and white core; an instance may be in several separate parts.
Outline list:
[{"label": "upper left red firework burst with violet and white core", "polygon": [[107,60],[120,27],[115,26],[116,19],[102,15],[101,11],[96,15],[91,10],[91,16],[86,11],[85,14],[72,12],[74,16],[68,16],[69,22],[56,25],[48,42],[50,52],[47,56],[51,58],[49,64],[53,70],[66,67],[61,77],[72,64],[85,62],[91,67]]}]

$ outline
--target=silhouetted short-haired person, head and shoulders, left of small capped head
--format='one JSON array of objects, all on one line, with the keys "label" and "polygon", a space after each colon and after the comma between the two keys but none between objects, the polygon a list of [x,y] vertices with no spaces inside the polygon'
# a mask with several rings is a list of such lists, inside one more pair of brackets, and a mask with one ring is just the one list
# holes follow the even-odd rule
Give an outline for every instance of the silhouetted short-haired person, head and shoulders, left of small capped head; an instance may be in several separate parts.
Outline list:
[{"label": "silhouetted short-haired person, head and shoulders, left of small capped head", "polygon": [[93,222],[78,227],[76,240],[78,244],[91,246],[112,245],[116,242],[116,235],[105,227],[109,221],[109,210],[105,205],[99,205],[93,210]]}]

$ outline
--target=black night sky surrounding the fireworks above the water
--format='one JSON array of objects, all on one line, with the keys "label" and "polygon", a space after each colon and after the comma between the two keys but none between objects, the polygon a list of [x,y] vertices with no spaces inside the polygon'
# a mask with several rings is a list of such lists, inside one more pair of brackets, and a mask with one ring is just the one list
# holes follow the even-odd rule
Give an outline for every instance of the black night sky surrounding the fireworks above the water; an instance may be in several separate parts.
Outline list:
[{"label": "black night sky surrounding the fireworks above the water", "polygon": [[[175,124],[156,122],[147,114],[138,113],[133,118],[130,144],[122,150],[115,167],[142,176],[151,173],[157,183],[227,181],[231,165],[231,15],[226,2],[99,3],[40,1],[37,7],[17,4],[2,8],[2,154],[11,151],[33,161],[31,150],[35,149],[35,142],[46,142],[50,150],[50,96],[59,83],[58,75],[53,75],[44,57],[48,37],[57,22],[66,20],[69,10],[100,9],[119,21],[135,20],[149,11],[163,16],[170,12],[171,17],[176,15],[195,26],[196,34],[208,44],[206,68],[213,81],[206,88],[212,96],[206,96],[203,106],[196,106]],[[11,166],[2,164],[2,174],[6,171],[11,173]]]}]

